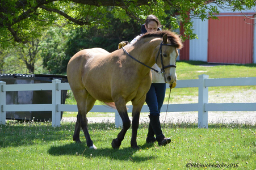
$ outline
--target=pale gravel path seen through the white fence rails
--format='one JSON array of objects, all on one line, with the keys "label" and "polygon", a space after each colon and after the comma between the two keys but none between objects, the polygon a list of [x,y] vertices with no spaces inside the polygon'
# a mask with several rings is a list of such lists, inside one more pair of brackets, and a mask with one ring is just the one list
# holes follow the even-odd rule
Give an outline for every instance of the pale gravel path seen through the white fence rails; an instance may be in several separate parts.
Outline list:
[{"label": "pale gravel path seen through the white fence rails", "polygon": [[[177,96],[179,97],[179,96]],[[198,103],[197,96],[183,96],[181,103]],[[256,103],[256,90],[242,90],[240,92],[232,92],[230,94],[216,94],[209,92],[209,103]],[[256,105],[256,104],[255,104]],[[132,120],[132,118],[130,117]],[[88,117],[89,123],[91,122],[115,122],[115,113],[108,117]],[[162,111],[161,122],[198,122],[198,112],[169,112],[166,114]],[[75,122],[76,117],[63,117],[62,121]],[[149,122],[146,113],[140,116],[140,122]],[[208,123],[237,123],[237,124],[256,124],[256,111],[255,112],[208,112]]]}]

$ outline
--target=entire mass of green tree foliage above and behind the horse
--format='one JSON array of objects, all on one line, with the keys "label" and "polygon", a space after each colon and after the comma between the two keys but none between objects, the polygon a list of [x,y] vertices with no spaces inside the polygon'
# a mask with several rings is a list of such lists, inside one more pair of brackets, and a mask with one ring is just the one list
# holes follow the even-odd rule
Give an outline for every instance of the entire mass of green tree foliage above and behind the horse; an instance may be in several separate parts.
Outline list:
[{"label": "entire mass of green tree foliage above and behind the horse", "polygon": [[[132,40],[140,33],[140,25],[149,14],[158,16],[162,28],[179,32],[183,27],[183,39],[195,39],[191,18],[216,19],[217,5],[235,11],[254,7],[256,2],[3,0],[0,3],[0,71],[7,68],[10,73],[20,68],[22,73],[34,73],[38,71],[34,68],[39,60],[47,69],[40,67],[41,73],[65,74],[66,64],[78,50],[100,47],[114,51],[120,41]],[[6,63],[11,59],[19,61],[18,66]]]}]

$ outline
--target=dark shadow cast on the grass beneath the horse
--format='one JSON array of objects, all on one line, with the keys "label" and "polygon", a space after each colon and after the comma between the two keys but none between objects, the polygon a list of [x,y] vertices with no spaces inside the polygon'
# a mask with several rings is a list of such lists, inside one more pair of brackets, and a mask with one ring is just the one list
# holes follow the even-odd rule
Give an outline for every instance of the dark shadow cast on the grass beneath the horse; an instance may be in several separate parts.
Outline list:
[{"label": "dark shadow cast on the grass beneath the horse", "polygon": [[[144,146],[145,147],[145,146]],[[114,160],[132,160],[132,162],[144,162],[150,159],[156,159],[156,156],[133,156],[135,150],[131,147],[113,148],[97,148],[97,150],[86,147],[86,143],[70,143],[63,146],[52,146],[48,150],[48,154],[54,156],[61,155],[78,155],[83,158],[106,157]]]}]

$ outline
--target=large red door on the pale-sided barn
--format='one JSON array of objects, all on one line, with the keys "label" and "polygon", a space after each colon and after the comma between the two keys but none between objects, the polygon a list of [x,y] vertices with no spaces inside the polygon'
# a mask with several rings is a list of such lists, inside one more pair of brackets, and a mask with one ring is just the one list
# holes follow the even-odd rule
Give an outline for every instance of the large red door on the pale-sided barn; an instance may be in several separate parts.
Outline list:
[{"label": "large red door on the pale-sided barn", "polygon": [[209,19],[208,62],[253,63],[253,25],[246,24],[241,14],[221,14],[218,18]]}]

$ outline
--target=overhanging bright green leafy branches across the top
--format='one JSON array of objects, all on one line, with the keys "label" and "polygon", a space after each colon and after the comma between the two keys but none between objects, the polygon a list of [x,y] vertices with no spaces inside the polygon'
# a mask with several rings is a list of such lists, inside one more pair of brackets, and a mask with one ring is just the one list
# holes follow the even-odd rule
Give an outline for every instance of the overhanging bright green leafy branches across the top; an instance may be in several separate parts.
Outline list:
[{"label": "overhanging bright green leafy branches across the top", "polygon": [[[208,5],[207,5],[208,4]],[[163,25],[179,27],[183,22],[185,35],[190,39],[192,23],[188,16],[202,20],[216,18],[219,11],[213,4],[230,10],[243,10],[256,5],[254,0],[2,0],[0,2],[0,44],[2,48],[15,44],[26,44],[32,38],[40,37],[41,31],[49,25],[61,27],[78,27],[87,25],[98,28],[107,27],[114,15],[121,22],[135,20],[143,23],[148,14],[155,14]],[[166,11],[173,11],[167,16]],[[177,15],[180,16],[177,19]],[[167,18],[167,20],[166,20]]]}]

